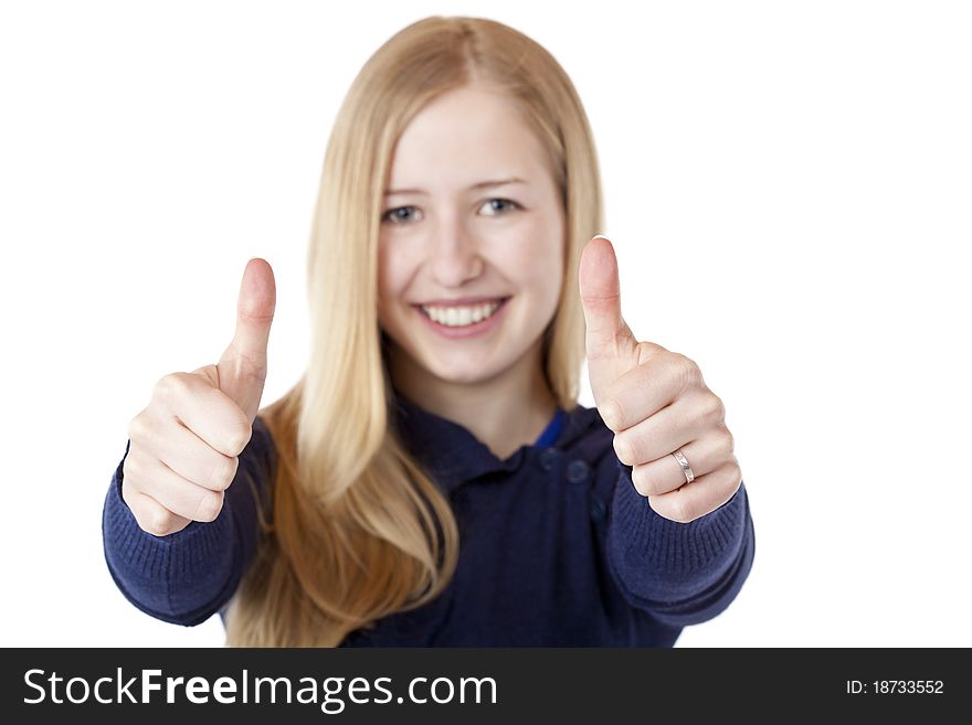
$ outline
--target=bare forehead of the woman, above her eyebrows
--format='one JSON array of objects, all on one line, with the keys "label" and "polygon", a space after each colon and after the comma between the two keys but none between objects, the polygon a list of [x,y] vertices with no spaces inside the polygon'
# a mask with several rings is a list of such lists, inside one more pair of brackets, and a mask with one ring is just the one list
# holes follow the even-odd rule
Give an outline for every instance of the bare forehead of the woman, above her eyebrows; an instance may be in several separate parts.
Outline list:
[{"label": "bare forehead of the woman, above her eyebrows", "polygon": [[389,186],[443,191],[483,179],[547,173],[545,150],[515,103],[501,92],[464,87],[439,96],[405,127]]}]

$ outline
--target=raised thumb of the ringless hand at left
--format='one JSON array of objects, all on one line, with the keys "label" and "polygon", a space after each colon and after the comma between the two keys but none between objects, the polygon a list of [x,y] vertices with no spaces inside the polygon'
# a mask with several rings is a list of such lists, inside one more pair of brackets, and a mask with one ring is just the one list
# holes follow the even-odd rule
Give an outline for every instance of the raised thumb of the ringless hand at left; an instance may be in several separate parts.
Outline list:
[{"label": "raised thumb of the ringless hand at left", "polygon": [[216,364],[220,390],[253,424],[266,381],[266,345],[276,308],[276,284],[265,259],[254,257],[243,270],[236,302],[236,333]]}]

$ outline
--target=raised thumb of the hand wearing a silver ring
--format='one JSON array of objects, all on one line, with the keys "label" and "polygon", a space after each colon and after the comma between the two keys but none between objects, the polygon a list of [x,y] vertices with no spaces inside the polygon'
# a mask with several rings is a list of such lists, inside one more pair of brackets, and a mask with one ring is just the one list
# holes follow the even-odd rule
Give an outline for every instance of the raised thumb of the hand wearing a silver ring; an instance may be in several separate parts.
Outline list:
[{"label": "raised thumb of the hand wearing a silver ring", "polygon": [[601,235],[581,253],[578,273],[587,326],[588,373],[595,402],[623,373],[637,364],[637,340],[621,317],[621,280],[614,246]]}]

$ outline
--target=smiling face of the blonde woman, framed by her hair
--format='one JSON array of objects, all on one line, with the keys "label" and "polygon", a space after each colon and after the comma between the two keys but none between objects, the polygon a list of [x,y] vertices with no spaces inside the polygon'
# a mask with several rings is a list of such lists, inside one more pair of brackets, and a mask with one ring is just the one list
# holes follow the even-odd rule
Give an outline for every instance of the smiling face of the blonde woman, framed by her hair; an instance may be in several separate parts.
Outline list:
[{"label": "smiling face of the blonde woman, framed by her hair", "polygon": [[513,102],[484,86],[443,94],[405,128],[379,242],[379,323],[403,390],[535,375],[564,259],[549,163]]}]

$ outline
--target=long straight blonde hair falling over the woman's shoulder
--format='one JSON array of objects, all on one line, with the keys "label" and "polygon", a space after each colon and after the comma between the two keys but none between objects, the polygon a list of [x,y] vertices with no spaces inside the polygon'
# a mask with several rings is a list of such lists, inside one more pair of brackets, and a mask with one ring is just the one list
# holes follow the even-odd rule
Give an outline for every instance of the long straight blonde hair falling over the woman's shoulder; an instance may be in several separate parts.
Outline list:
[{"label": "long straight blonde hair falling over the woman's shoulder", "polygon": [[277,466],[257,552],[226,611],[230,647],[338,646],[355,629],[430,601],[455,571],[450,503],[391,418],[377,320],[378,236],[398,138],[434,97],[476,82],[517,104],[562,191],[563,285],[543,333],[543,369],[558,404],[577,405],[584,356],[577,270],[603,222],[580,98],[557,61],[507,25],[415,22],[364,64],[328,142],[308,255],[310,360],[300,381],[260,413]]}]

